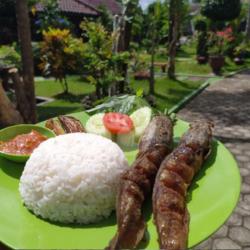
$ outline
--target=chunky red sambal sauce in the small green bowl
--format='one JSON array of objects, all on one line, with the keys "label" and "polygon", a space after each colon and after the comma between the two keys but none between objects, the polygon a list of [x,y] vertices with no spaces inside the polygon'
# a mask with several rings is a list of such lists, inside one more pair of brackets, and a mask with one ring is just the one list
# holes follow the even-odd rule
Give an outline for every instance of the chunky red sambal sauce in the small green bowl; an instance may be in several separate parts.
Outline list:
[{"label": "chunky red sambal sauce in the small green bowl", "polygon": [[40,143],[47,139],[46,136],[32,130],[28,134],[17,135],[9,141],[0,141],[0,151],[15,155],[30,155]]}]

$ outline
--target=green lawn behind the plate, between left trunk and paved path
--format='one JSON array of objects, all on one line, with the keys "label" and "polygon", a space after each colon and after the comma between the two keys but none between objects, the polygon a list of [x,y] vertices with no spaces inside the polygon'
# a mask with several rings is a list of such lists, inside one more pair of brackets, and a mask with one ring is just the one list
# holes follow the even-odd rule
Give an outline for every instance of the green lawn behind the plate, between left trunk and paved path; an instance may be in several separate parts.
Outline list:
[{"label": "green lawn behind the plate, between left trunk and paved path", "polygon": [[[85,95],[94,91],[94,86],[85,83],[77,76],[69,77],[68,83],[70,94],[63,95],[59,82],[41,79],[36,81],[36,95],[55,99],[51,103],[37,107],[39,121],[83,110],[81,100]],[[201,81],[173,81],[167,78],[157,78],[155,84],[156,108],[162,112],[166,108],[170,109],[201,84]],[[148,93],[147,81],[131,79],[131,87],[135,91],[143,89],[145,93]]]}]

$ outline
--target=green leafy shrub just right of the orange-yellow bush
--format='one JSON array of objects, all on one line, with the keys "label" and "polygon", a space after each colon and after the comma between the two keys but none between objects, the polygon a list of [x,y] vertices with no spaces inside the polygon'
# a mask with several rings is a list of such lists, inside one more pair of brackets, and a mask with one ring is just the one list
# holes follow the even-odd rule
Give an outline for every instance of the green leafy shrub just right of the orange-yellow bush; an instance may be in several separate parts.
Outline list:
[{"label": "green leafy shrub just right of the orange-yellow bush", "polygon": [[80,25],[84,32],[86,49],[83,70],[87,80],[96,86],[98,98],[107,95],[110,85],[123,80],[118,67],[129,58],[128,52],[114,53],[116,34],[109,33],[102,24],[84,21]]}]

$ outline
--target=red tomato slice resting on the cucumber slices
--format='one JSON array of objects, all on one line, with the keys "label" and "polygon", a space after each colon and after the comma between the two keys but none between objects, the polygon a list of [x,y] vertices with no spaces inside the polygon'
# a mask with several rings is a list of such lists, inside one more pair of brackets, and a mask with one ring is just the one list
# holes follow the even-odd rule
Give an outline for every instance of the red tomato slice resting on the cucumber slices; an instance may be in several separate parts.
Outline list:
[{"label": "red tomato slice resting on the cucumber slices", "polygon": [[126,134],[134,127],[133,121],[128,115],[115,112],[106,113],[103,123],[106,129],[113,134]]}]

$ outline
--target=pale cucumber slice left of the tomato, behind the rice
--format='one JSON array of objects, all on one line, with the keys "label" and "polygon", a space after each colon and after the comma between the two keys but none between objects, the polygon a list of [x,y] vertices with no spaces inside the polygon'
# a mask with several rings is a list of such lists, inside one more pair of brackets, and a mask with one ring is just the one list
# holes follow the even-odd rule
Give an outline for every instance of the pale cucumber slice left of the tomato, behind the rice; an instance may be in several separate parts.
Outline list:
[{"label": "pale cucumber slice left of the tomato, behind the rice", "polygon": [[103,124],[104,113],[99,113],[91,116],[86,123],[86,131],[91,134],[101,135],[111,139],[111,133]]}]

